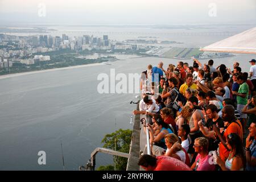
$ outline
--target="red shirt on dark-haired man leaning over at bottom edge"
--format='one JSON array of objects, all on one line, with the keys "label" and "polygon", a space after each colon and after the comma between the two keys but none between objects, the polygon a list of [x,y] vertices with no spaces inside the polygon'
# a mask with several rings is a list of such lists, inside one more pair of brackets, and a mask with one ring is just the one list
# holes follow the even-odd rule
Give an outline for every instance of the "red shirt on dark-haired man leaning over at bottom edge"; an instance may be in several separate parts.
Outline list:
[{"label": "red shirt on dark-haired man leaning over at bottom edge", "polygon": [[191,171],[185,163],[169,156],[157,156],[154,171]]}]

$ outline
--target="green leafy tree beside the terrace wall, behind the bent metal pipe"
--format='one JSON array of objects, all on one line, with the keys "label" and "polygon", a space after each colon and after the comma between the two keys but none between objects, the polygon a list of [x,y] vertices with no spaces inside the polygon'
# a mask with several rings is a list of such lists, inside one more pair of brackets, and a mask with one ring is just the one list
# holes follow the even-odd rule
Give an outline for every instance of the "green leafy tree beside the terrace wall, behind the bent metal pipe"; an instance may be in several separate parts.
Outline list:
[{"label": "green leafy tree beside the terrace wall, behind the bent metal pipe", "polygon": [[[112,134],[105,135],[105,137],[104,137],[104,139],[102,139],[101,143],[104,143],[104,146],[103,146],[104,148],[109,148],[111,150],[129,153],[132,133],[133,133],[133,131],[131,131],[129,129],[127,129],[127,130],[119,129]],[[118,171],[126,170],[127,158],[114,156],[114,160],[115,160],[115,169],[116,170],[118,170]],[[104,167],[100,166],[99,168],[104,168]]]}]

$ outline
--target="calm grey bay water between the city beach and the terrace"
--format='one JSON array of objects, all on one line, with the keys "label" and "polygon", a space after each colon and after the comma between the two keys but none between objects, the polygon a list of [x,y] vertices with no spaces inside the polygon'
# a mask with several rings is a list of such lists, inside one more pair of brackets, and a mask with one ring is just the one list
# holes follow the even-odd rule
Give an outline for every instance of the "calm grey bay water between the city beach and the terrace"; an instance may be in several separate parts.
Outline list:
[{"label": "calm grey bay water between the city beach and the terrace", "polygon": [[[207,46],[223,37],[182,36],[175,39],[187,40],[186,45]],[[134,55],[117,57],[121,60],[112,65],[0,79],[0,169],[62,170],[62,141],[65,169],[77,170],[90,159],[96,147],[102,146],[101,140],[106,134],[119,128],[132,129],[131,111],[136,106],[130,101],[136,101],[137,94],[100,94],[97,76],[100,73],[110,75],[110,69],[115,69],[116,74],[141,73],[148,64],[154,66],[162,60],[166,68],[170,63],[176,65],[177,60]],[[248,61],[253,58],[254,55],[239,54],[213,60],[215,67],[225,64],[229,68],[236,60],[242,71],[249,72]],[[192,64],[191,60],[185,61]],[[208,60],[200,61],[206,63]],[[38,164],[39,151],[46,152],[46,165]],[[112,163],[110,155],[96,156],[96,168]]]}]

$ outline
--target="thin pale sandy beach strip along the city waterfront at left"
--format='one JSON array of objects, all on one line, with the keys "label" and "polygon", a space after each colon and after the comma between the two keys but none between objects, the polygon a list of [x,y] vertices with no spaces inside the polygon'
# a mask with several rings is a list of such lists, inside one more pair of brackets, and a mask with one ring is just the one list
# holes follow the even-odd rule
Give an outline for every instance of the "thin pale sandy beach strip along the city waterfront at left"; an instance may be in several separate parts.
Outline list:
[{"label": "thin pale sandy beach strip along the city waterfront at left", "polygon": [[12,74],[7,74],[7,75],[1,75],[0,76],[0,80],[5,79],[5,78],[16,77],[16,76],[31,75],[31,74],[35,74],[35,73],[44,73],[44,72],[58,71],[58,70],[64,70],[64,69],[73,69],[73,68],[93,67],[93,66],[97,66],[97,65],[103,65],[104,63],[105,62],[102,62],[102,63],[92,63],[92,64],[84,64],[84,65],[75,65],[75,66],[63,67],[63,68],[43,69],[43,70],[40,70],[40,71],[12,73]]}]

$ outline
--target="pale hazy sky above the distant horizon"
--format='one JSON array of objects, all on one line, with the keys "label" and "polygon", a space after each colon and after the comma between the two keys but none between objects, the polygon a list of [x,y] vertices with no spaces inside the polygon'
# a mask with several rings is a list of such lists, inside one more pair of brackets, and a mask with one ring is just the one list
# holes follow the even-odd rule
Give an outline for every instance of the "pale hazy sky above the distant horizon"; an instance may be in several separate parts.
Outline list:
[{"label": "pale hazy sky above the distant horizon", "polygon": [[[46,6],[46,16],[42,14],[44,10],[40,3]],[[210,6],[211,3],[213,3],[212,6]],[[0,0],[0,23],[7,22],[67,24],[256,23],[256,1]]]}]

